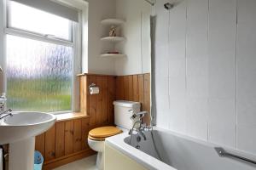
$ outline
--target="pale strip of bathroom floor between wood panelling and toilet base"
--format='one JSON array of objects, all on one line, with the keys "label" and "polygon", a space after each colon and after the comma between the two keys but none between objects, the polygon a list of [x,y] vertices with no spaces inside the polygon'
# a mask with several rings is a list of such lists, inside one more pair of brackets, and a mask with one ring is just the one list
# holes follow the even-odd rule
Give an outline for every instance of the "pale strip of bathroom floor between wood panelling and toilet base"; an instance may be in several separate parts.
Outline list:
[{"label": "pale strip of bathroom floor between wood panelling and toilet base", "polygon": [[96,155],[86,157],[79,161],[74,161],[62,167],[57,167],[54,170],[97,170]]}]

